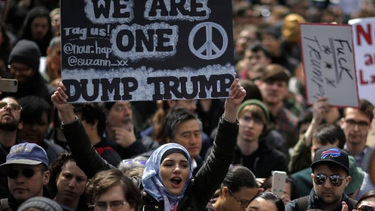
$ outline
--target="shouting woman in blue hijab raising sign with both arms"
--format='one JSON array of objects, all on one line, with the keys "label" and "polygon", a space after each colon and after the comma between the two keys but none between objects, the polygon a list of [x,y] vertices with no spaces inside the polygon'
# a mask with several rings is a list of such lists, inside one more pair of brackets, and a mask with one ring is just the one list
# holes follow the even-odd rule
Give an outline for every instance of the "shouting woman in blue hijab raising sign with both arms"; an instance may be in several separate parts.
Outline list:
[{"label": "shouting woman in blue hijab raising sign with both arms", "polygon": [[[96,153],[73,110],[66,104],[65,86],[59,82],[52,102],[62,114],[62,129],[69,148],[79,166],[90,178],[99,170],[114,168]],[[131,178],[141,190],[138,211],[201,211],[220,186],[234,158],[238,134],[237,109],[246,95],[234,79],[230,86],[225,111],[220,118],[213,148],[206,163],[192,178],[189,153],[181,145],[170,143],[157,148],[146,162],[141,178]],[[130,179],[130,178],[129,178]]]}]

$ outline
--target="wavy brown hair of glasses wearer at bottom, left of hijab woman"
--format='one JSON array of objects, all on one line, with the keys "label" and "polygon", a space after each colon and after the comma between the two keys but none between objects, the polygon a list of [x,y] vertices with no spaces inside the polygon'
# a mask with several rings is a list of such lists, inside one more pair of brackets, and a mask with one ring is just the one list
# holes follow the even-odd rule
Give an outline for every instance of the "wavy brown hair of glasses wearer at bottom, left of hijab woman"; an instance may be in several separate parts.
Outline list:
[{"label": "wavy brown hair of glasses wearer at bottom, left of hijab woman", "polygon": [[130,207],[137,207],[141,202],[141,193],[129,177],[118,169],[98,172],[86,184],[86,199],[89,206],[93,206],[98,197],[111,187],[120,185]]}]

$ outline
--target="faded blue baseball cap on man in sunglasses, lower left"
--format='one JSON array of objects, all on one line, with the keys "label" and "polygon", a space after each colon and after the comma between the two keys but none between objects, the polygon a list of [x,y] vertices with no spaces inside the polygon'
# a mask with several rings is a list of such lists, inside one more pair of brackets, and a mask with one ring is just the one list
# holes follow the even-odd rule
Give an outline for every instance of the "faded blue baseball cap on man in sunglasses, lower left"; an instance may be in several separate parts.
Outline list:
[{"label": "faded blue baseball cap on man in sunglasses, lower left", "polygon": [[40,163],[48,168],[49,161],[46,151],[34,143],[20,143],[10,148],[9,154],[6,156],[6,162],[0,166],[9,164],[37,165]]}]

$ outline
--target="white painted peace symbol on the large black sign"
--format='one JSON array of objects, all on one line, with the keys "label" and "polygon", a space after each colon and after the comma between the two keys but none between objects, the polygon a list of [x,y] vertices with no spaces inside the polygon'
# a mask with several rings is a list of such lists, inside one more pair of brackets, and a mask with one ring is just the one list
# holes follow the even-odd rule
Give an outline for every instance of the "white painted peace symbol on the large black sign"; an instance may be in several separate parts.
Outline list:
[{"label": "white painted peace symbol on the large black sign", "polygon": [[[206,41],[201,47],[199,47],[198,49],[195,49],[193,45],[195,35],[198,32],[198,30],[203,27],[205,27],[205,30],[206,30]],[[218,30],[223,38],[223,45],[221,48],[217,47],[216,44],[214,44],[213,42],[213,38],[212,38],[213,28]],[[205,60],[217,59],[221,55],[223,55],[227,47],[228,47],[228,35],[226,35],[224,28],[217,23],[213,23],[213,22],[199,23],[190,32],[189,49],[198,58],[205,59]],[[203,54],[204,52],[205,54]]]}]

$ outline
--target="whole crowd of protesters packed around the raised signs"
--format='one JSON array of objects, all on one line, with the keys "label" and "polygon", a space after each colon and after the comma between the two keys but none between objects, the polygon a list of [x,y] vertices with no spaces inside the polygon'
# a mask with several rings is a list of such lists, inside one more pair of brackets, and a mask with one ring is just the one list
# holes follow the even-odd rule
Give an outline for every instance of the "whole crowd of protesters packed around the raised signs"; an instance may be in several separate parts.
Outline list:
[{"label": "whole crowd of protesters packed around the raised signs", "polygon": [[374,105],[309,106],[299,32],[374,4],[232,0],[229,98],[68,104],[59,1],[0,0],[0,210],[375,210]]}]

